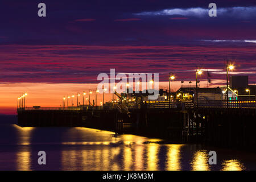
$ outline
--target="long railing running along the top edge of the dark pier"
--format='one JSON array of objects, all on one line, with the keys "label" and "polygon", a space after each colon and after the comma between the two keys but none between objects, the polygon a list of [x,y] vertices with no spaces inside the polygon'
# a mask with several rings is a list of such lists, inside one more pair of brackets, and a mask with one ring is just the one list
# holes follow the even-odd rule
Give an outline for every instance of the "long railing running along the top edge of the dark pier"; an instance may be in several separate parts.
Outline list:
[{"label": "long railing running along the top edge of the dark pier", "polygon": [[239,108],[239,109],[256,109],[256,101],[156,101],[156,102],[143,102],[143,104],[115,104],[104,106],[79,106],[79,107],[26,107],[19,108],[18,111],[23,110],[67,110],[67,111],[81,111],[81,110],[129,110],[135,109],[193,109],[193,108]]}]

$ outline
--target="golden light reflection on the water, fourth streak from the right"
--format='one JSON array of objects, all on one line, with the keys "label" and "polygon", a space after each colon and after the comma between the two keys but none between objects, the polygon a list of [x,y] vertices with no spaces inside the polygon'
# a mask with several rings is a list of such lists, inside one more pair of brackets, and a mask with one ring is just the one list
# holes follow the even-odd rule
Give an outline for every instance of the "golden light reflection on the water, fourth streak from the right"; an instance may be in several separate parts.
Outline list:
[{"label": "golden light reflection on the water, fourth streak from the right", "polygon": [[148,144],[148,151],[147,151],[147,167],[149,171],[156,171],[158,170],[158,150],[159,145],[155,143]]}]

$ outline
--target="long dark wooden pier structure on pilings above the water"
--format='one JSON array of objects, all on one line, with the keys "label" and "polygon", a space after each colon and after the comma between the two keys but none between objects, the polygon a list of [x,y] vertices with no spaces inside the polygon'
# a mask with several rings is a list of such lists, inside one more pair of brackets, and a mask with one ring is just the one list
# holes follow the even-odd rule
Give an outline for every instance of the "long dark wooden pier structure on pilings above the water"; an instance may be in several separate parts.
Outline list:
[{"label": "long dark wooden pier structure on pilings above the water", "polygon": [[26,107],[18,125],[91,127],[159,137],[174,142],[256,148],[255,101],[141,102],[106,106]]}]

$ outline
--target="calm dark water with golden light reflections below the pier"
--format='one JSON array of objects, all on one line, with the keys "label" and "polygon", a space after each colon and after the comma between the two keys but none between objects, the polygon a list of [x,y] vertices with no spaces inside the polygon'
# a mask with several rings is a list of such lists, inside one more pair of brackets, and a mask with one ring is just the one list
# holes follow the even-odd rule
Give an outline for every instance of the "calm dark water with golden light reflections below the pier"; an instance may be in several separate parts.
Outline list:
[{"label": "calm dark water with golden light reflections below the pier", "polygon": [[[210,150],[217,165],[208,164]],[[38,151],[46,151],[47,165],[38,164]],[[256,155],[84,127],[3,124],[0,170],[256,170]]]}]

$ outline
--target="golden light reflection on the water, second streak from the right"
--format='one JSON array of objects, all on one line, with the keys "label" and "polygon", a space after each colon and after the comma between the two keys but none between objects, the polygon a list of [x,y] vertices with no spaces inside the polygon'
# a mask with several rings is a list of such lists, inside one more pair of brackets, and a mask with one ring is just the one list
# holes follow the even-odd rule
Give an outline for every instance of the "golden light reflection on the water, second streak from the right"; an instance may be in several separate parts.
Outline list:
[{"label": "golden light reflection on the water, second streak from the right", "polygon": [[196,151],[192,160],[193,171],[209,171],[208,153],[205,150]]}]

